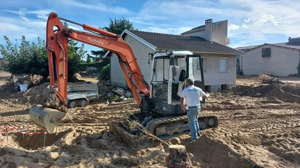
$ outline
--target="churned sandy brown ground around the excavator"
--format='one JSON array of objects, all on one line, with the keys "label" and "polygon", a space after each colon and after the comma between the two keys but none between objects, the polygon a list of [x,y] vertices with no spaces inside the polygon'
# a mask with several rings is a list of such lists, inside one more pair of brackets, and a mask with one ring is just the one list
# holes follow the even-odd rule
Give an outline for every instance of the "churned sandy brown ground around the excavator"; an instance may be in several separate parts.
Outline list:
[{"label": "churned sandy brown ground around the excavator", "polygon": [[[201,115],[217,115],[217,129],[202,131],[196,142],[189,135],[167,142],[185,145],[194,167],[300,167],[300,85],[262,84],[263,77],[238,77],[236,88],[211,94]],[[45,86],[25,93],[0,86],[1,128],[33,126],[28,108],[44,97]],[[46,147],[44,133],[0,134],[0,167],[165,166],[163,145],[135,151],[110,133],[108,123],[122,120],[124,111],[138,111],[135,101],[71,109],[58,135],[46,134]]]}]

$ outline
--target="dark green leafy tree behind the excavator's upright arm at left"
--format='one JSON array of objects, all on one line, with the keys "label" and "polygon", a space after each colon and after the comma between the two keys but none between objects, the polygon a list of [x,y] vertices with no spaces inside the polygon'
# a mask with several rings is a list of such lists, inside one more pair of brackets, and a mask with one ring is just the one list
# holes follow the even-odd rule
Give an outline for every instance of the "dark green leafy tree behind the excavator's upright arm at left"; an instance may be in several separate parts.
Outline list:
[{"label": "dark green leafy tree behind the excavator's upright arm at left", "polygon": [[[49,75],[48,55],[45,41],[38,37],[36,43],[30,43],[22,36],[19,46],[12,45],[10,39],[4,36],[6,46],[0,44],[0,52],[2,55],[2,63],[4,71],[12,73],[12,75],[42,75],[45,81]],[[73,80],[74,73],[83,71],[81,66],[83,57],[85,56],[84,45],[76,46],[74,40],[69,40],[68,45],[68,77]]]}]

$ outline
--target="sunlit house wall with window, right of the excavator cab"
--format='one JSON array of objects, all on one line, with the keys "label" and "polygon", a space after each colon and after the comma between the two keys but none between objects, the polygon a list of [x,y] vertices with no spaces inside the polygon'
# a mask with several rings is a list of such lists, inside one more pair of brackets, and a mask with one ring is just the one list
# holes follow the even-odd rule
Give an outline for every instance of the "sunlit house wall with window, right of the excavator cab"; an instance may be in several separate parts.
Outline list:
[{"label": "sunlit house wall with window, right of the excavator cab", "polygon": [[[210,86],[211,91],[221,90],[221,85],[226,84],[228,87],[235,86],[236,81],[236,66],[235,55],[217,55],[217,54],[200,54],[201,57],[206,57],[206,72],[204,75],[204,85]],[[228,71],[220,72],[220,58],[228,58]]]}]

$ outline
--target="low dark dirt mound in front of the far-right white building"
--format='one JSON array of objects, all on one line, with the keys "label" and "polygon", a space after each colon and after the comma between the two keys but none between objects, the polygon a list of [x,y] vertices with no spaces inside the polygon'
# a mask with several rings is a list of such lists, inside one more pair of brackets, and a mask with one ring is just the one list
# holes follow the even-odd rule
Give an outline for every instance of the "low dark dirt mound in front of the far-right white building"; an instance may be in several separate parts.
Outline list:
[{"label": "low dark dirt mound in front of the far-right white building", "polygon": [[251,97],[276,97],[283,102],[300,103],[300,87],[288,84],[265,84],[258,86],[238,85],[233,93]]}]

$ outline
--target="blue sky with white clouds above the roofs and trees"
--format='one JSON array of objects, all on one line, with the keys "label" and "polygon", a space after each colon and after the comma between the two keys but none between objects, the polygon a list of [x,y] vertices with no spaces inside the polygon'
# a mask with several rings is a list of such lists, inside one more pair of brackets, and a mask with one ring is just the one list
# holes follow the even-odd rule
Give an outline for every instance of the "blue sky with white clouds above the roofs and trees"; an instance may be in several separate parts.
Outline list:
[{"label": "blue sky with white clouds above the roofs and trees", "polygon": [[[300,36],[299,9],[298,0],[2,0],[0,44],[5,44],[3,35],[12,43],[18,43],[22,35],[29,41],[45,39],[50,12],[96,27],[124,17],[138,30],[175,35],[203,25],[206,19],[227,19],[233,48],[278,43]],[[97,50],[88,45],[85,49]]]}]

